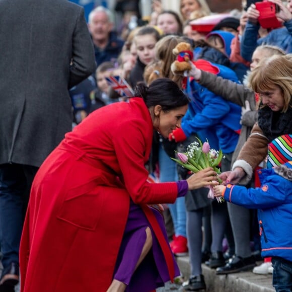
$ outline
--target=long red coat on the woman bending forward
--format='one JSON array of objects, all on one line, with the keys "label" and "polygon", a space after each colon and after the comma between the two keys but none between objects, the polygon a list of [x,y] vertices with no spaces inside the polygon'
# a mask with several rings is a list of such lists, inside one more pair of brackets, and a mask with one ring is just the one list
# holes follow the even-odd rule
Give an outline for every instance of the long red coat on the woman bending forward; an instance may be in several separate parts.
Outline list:
[{"label": "long red coat on the woman bending forward", "polygon": [[129,198],[147,208],[177,197],[176,183],[147,183],[152,136],[141,98],[103,107],[65,135],[33,182],[20,247],[22,292],[107,290]]}]

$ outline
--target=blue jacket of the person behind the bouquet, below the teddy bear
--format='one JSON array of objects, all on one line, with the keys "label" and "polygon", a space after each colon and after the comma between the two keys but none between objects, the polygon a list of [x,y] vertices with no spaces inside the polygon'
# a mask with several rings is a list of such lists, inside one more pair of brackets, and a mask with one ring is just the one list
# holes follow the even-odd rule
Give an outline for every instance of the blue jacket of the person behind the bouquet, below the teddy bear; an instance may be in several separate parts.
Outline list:
[{"label": "blue jacket of the person behind the bouquet, below the teddy bear", "polygon": [[[211,64],[220,70],[218,76],[238,82],[233,70],[222,65]],[[181,124],[186,136],[198,133],[200,137],[206,137],[214,149],[218,145],[223,153],[232,153],[237,145],[238,132],[241,128],[241,107],[215,95],[194,80],[188,83],[187,93],[191,102]],[[215,136],[217,142],[212,140]]]}]

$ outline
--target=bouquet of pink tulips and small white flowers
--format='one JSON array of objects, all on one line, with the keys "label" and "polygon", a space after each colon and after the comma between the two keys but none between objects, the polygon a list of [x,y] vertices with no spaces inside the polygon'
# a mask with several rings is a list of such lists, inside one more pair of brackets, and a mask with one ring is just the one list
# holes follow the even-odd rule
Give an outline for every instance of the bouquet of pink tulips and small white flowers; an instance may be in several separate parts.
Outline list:
[{"label": "bouquet of pink tulips and small white flowers", "polygon": [[[188,145],[186,152],[177,153],[178,159],[172,158],[172,160],[177,162],[182,167],[190,170],[192,173],[197,173],[202,169],[212,167],[217,174],[220,174],[220,169],[218,169],[217,166],[223,158],[222,151],[210,149],[208,141],[202,143],[199,138],[197,138],[197,140],[198,142],[195,141]],[[220,178],[218,178],[218,181],[222,183]],[[208,197],[212,199],[214,198],[214,193],[211,186]],[[223,197],[216,197],[216,199],[218,202],[224,201]]]}]

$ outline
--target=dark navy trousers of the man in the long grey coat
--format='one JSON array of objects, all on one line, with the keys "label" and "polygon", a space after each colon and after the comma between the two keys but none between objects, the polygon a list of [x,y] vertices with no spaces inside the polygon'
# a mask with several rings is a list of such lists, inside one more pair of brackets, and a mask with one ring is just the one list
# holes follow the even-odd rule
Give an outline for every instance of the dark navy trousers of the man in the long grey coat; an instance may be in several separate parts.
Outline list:
[{"label": "dark navy trousers of the man in the long grey coat", "polygon": [[0,242],[4,268],[19,263],[19,244],[32,181],[38,168],[0,165]]}]

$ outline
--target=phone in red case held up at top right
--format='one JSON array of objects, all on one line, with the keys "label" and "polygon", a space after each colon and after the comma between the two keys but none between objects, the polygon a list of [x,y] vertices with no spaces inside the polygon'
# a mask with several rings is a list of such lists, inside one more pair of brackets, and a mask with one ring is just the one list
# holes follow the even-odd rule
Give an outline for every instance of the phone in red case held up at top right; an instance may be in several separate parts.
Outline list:
[{"label": "phone in red case held up at top right", "polygon": [[276,13],[280,11],[278,5],[269,2],[256,2],[256,9],[259,11],[260,16],[258,22],[262,28],[278,28],[282,24],[277,20]]}]

